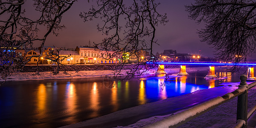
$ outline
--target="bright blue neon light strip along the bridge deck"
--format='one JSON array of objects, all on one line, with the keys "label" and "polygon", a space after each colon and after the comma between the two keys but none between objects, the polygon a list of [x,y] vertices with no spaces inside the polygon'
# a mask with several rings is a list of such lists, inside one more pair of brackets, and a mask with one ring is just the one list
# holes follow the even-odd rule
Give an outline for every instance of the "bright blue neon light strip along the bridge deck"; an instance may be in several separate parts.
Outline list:
[{"label": "bright blue neon light strip along the bridge deck", "polygon": [[[153,64],[153,62],[147,62],[147,64]],[[182,63],[182,62],[156,62],[155,64],[198,64],[198,65],[256,65],[256,64],[250,64],[250,63],[245,63],[245,64],[236,64],[236,63]]]}]

